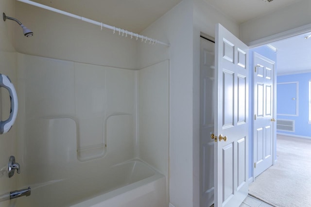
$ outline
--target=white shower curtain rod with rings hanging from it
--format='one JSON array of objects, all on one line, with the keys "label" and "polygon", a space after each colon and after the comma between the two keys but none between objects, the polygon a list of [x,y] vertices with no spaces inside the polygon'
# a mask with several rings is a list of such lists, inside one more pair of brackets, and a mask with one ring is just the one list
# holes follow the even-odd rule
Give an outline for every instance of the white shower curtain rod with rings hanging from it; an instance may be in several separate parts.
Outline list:
[{"label": "white shower curtain rod with rings hanging from it", "polygon": [[167,43],[158,41],[158,40],[156,40],[156,39],[152,39],[152,38],[150,38],[150,37],[143,36],[143,35],[140,35],[140,34],[138,34],[138,33],[129,32],[129,31],[123,30],[123,29],[121,29],[121,28],[113,27],[113,26],[104,24],[103,22],[99,22],[99,21],[95,21],[95,20],[92,20],[92,19],[88,19],[88,18],[85,18],[85,17],[83,17],[83,16],[74,15],[74,14],[71,14],[71,13],[69,13],[69,12],[65,12],[65,11],[62,11],[62,10],[59,10],[59,9],[55,9],[55,8],[53,8],[53,7],[46,6],[46,5],[44,5],[44,4],[40,4],[40,3],[31,1],[31,0],[17,0],[17,1],[24,2],[24,3],[30,4],[30,5],[33,5],[33,6],[36,6],[36,7],[43,8],[43,9],[47,9],[47,10],[50,10],[50,11],[52,11],[52,12],[56,12],[56,13],[59,13],[59,14],[62,14],[62,15],[66,15],[66,16],[70,16],[70,17],[73,17],[73,18],[76,18],[76,19],[80,19],[80,20],[82,20],[82,21],[86,21],[86,22],[88,22],[88,23],[98,25],[98,26],[101,27],[102,30],[103,30],[103,27],[104,27],[104,28],[113,30],[113,33],[119,32],[119,35],[122,34],[122,36],[125,35],[125,37],[130,36],[131,39],[132,39],[133,37],[136,37],[136,40],[138,40],[138,38],[139,38],[139,39],[141,40],[141,42],[149,42],[149,44],[152,44],[152,45],[160,44],[160,45],[165,45],[165,46],[167,46],[167,47],[170,47],[170,44],[167,44]]}]

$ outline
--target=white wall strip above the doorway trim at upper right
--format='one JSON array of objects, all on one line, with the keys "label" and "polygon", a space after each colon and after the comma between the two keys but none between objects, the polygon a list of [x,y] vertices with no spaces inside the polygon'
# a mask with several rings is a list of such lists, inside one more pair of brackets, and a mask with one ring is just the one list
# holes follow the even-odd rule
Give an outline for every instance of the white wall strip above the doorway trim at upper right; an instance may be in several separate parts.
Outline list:
[{"label": "white wall strip above the doorway trim at upper right", "polygon": [[302,0],[241,24],[241,40],[248,44],[307,24],[311,24],[311,1]]}]

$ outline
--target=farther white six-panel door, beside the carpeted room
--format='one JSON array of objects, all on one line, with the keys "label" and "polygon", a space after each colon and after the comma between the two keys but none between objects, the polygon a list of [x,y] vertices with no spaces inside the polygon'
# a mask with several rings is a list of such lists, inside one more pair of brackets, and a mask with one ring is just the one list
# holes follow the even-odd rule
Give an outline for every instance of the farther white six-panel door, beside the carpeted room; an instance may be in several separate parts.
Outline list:
[{"label": "farther white six-panel door, beside the carpeted room", "polygon": [[273,164],[275,62],[254,54],[254,176]]}]

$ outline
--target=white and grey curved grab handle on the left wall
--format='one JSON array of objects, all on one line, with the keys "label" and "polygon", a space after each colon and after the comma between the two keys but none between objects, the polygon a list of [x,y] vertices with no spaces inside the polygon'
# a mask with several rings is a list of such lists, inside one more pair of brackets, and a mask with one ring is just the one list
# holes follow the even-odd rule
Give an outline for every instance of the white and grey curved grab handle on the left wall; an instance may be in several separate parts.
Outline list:
[{"label": "white and grey curved grab handle on the left wall", "polygon": [[16,120],[18,100],[17,100],[17,93],[14,88],[14,85],[12,84],[9,77],[7,77],[6,75],[0,74],[0,87],[3,87],[6,90],[8,90],[10,99],[11,99],[10,116],[7,120],[0,121],[0,134],[4,134],[11,129],[11,127],[13,126]]}]

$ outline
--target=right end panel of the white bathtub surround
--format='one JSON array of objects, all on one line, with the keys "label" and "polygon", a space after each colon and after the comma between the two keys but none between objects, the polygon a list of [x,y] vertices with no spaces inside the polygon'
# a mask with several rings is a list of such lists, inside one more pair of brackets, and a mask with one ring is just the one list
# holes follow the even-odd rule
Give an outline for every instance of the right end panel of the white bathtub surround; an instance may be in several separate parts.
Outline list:
[{"label": "right end panel of the white bathtub surround", "polygon": [[[166,60],[138,71],[138,157],[165,175],[167,181],[170,127],[169,66],[169,61]],[[168,196],[165,203],[168,205]]]}]

